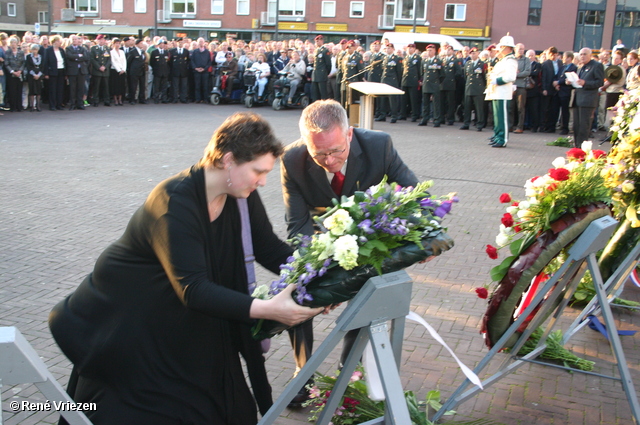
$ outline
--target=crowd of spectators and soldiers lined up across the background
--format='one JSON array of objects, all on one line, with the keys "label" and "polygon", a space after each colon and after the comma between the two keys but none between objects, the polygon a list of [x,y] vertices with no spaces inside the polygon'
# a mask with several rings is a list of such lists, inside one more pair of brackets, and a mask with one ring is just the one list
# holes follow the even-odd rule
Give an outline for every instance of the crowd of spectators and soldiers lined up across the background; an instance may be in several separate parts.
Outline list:
[{"label": "crowd of spectators and soldiers lined up across the background", "polygon": [[[165,37],[107,40],[103,35],[90,40],[82,35],[62,38],[31,33],[19,38],[0,33],[0,43],[0,105],[10,111],[40,111],[42,104],[55,111],[126,102],[208,103],[211,89],[218,84],[216,75],[229,75],[223,93],[230,96],[234,80],[245,89],[242,75],[247,70],[258,71],[255,84],[262,100],[272,93],[278,72],[285,71],[291,81],[288,103],[300,90],[312,101],[331,98],[346,106],[358,101],[357,94],[347,89],[351,82],[382,82],[405,94],[378,99],[377,121],[419,121],[420,126],[431,122],[434,127],[459,121],[462,130],[473,121],[478,131],[494,123],[486,89],[501,59],[496,45],[484,50],[428,45],[419,51],[414,44],[396,49],[388,40],[369,46],[346,39],[325,43],[322,35],[313,40],[229,38],[218,42]],[[587,49],[588,58],[605,70],[616,66],[597,87],[594,130],[606,130],[607,108],[624,90],[640,86],[638,52],[620,46],[603,49],[593,58]],[[514,45],[512,53],[518,68],[508,106],[509,131],[568,135],[575,84],[567,83],[567,75],[580,72],[580,54],[561,54],[550,47],[538,55],[522,43]]]}]

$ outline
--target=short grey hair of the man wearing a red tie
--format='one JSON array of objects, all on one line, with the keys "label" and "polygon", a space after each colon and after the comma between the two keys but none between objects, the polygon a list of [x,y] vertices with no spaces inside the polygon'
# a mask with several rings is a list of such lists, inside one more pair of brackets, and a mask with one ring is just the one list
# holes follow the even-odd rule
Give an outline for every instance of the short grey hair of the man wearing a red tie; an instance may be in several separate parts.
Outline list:
[{"label": "short grey hair of the man wearing a red tie", "polygon": [[343,133],[349,130],[347,111],[335,100],[319,100],[307,106],[300,116],[300,135],[307,143],[312,134],[331,131],[336,127]]}]

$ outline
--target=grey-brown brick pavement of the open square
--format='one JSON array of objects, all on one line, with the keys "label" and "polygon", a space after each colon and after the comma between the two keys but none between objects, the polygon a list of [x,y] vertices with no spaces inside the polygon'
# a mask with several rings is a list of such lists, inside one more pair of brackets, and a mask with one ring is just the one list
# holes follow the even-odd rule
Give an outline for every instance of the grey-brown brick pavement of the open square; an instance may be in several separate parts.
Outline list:
[{"label": "grey-brown brick pavement of the open square", "polygon": [[[236,110],[246,111],[233,105],[141,105],[0,117],[0,326],[17,326],[61,383],[66,384],[70,365],[47,328],[51,307],[80,283],[100,252],[119,237],[149,191],[194,163],[216,125]],[[254,111],[270,120],[285,143],[297,138],[299,111]],[[446,221],[456,246],[408,271],[415,281],[412,310],[473,367],[487,352],[478,334],[485,301],[473,290],[489,282],[488,271],[495,265],[483,247],[492,243],[503,213],[498,195],[511,192],[521,198],[526,179],[546,172],[565,149],[545,146],[551,135],[528,133],[512,135],[507,149],[490,149],[489,132],[457,127],[376,123],[376,129],[393,136],[419,178],[434,180],[433,193],[459,193],[461,202]],[[276,232],[284,236],[277,169],[260,193]],[[269,278],[263,271],[259,277]],[[640,299],[640,290],[627,288],[626,298]],[[316,341],[330,332],[339,312],[314,322]],[[569,311],[562,322],[570,323],[575,314]],[[622,328],[640,329],[637,313],[615,316]],[[623,338],[640,390],[638,341]],[[267,366],[278,395],[291,377],[293,361],[286,336],[275,338],[272,347]],[[571,347],[595,360],[598,371],[617,374],[599,334],[581,331]],[[321,372],[335,371],[338,356],[332,353]],[[490,369],[495,370],[498,360]],[[407,324],[401,367],[405,389],[419,397],[432,389],[447,397],[462,380],[448,353],[412,323]],[[33,385],[3,387],[5,424],[57,421],[56,413],[11,412],[8,402],[13,399],[44,397]],[[457,420],[490,418],[508,425],[631,423],[618,382],[538,365],[523,366],[457,412]],[[304,410],[286,410],[278,423],[303,424],[306,416]]]}]

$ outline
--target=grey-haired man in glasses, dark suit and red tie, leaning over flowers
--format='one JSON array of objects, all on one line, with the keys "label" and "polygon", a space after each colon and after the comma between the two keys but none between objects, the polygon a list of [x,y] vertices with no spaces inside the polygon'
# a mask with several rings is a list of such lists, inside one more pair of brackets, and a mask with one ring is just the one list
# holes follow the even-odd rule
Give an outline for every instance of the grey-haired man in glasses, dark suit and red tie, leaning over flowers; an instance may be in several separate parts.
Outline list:
[{"label": "grey-haired man in glasses, dark suit and red tie, leaning over flowers", "polygon": [[[300,117],[300,133],[301,139],[285,149],[280,166],[289,237],[312,235],[313,216],[331,206],[332,198],[366,190],[385,175],[401,186],[418,182],[388,134],[349,127],[346,111],[334,100],[309,105]],[[342,362],[356,335],[351,331],[345,336]],[[311,356],[312,321],[290,329],[289,337],[298,371]],[[300,406],[307,398],[302,388],[289,406]]]}]

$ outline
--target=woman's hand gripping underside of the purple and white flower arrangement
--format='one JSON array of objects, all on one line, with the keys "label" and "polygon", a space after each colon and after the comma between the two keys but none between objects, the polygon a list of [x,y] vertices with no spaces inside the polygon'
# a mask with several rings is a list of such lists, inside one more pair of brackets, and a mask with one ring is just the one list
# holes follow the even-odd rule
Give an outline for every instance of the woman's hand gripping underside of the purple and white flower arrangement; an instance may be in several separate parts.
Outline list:
[{"label": "woman's hand gripping underside of the purple and white flower arrangement", "polygon": [[309,308],[296,304],[291,298],[294,289],[294,285],[289,285],[270,300],[253,300],[249,316],[252,319],[270,319],[295,326],[324,311],[322,307]]}]

